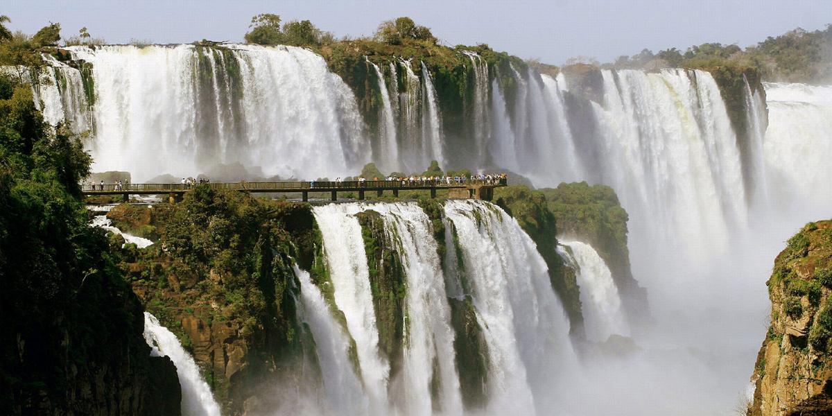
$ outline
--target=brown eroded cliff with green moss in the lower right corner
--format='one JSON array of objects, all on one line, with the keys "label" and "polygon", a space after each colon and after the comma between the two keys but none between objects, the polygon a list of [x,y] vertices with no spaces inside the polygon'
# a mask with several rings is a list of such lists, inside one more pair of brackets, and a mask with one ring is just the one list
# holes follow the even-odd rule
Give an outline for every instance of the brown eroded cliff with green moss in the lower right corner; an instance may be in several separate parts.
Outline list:
[{"label": "brown eroded cliff with green moss in the lower right corner", "polygon": [[749,415],[832,413],[832,220],[809,223],[775,260],[771,325]]}]

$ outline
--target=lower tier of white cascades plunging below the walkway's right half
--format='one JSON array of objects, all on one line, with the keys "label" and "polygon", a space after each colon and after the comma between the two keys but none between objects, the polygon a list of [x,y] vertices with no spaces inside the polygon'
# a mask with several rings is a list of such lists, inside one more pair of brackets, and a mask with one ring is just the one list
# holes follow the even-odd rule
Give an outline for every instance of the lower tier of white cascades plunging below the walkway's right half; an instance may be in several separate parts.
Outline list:
[{"label": "lower tier of white cascades plunging below the walkway's right half", "polygon": [[[552,290],[546,263],[517,221],[503,210],[478,201],[448,201],[444,207],[445,240],[459,242],[470,294],[462,293],[458,280],[448,283],[453,279],[443,270],[433,224],[417,204],[347,203],[313,210],[324,240],[335,305],[344,313],[358,348],[364,396],[374,400],[370,413],[464,413],[453,357],[470,353],[455,350],[448,297],[463,299],[465,295],[473,302],[489,354],[488,412],[517,409],[525,414],[551,414],[552,409],[564,406],[564,397],[549,389],[558,384],[552,374],[575,374],[572,366],[577,359],[568,339],[569,324]],[[390,364],[379,353],[364,239],[356,217],[364,211],[381,215],[385,238],[397,253],[405,278],[404,354],[398,373],[389,380]],[[448,261],[457,263],[456,259]],[[309,275],[302,270],[296,273],[301,291],[306,292],[302,295],[305,319],[323,349],[319,355],[334,352],[321,358],[324,378],[334,374],[334,379],[344,379],[349,375],[344,372],[352,370],[346,362],[347,335],[339,333],[325,312],[324,300]],[[308,315],[308,308],[313,307],[319,310],[317,318]],[[330,342],[333,339],[341,339],[342,344]],[[343,394],[336,398],[342,399],[330,401],[344,400]]]}]

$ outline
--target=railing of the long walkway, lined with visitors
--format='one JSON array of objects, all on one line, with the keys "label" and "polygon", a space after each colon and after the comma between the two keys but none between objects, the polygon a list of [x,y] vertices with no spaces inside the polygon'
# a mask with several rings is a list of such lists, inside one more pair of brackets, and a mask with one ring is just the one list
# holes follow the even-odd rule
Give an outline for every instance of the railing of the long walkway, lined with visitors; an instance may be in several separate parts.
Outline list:
[{"label": "railing of the long walkway, lined with visitors", "polygon": [[[203,185],[203,184],[199,184]],[[329,191],[329,190],[361,190],[366,188],[385,188],[385,189],[408,189],[408,188],[458,188],[463,186],[476,185],[491,185],[501,186],[507,185],[504,178],[497,179],[467,179],[464,181],[428,179],[425,181],[280,181],[280,182],[210,182],[205,185],[217,190],[230,191]],[[181,184],[181,183],[138,183],[138,184],[84,184],[82,191],[84,192],[123,192],[129,194],[131,192],[182,192],[190,191],[198,185]]]}]

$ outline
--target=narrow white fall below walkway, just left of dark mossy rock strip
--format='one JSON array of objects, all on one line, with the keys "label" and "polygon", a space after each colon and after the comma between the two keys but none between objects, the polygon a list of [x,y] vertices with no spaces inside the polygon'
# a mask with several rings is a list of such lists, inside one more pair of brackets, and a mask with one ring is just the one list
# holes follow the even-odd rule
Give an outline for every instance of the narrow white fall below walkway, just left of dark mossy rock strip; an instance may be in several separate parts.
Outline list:
[{"label": "narrow white fall below walkway, just left of dark mossy rock strip", "polygon": [[335,304],[344,312],[347,329],[355,339],[371,409],[380,414],[388,403],[390,364],[379,352],[364,239],[359,220],[354,216],[360,210],[362,206],[358,204],[331,204],[315,206],[313,213],[324,240]]}]

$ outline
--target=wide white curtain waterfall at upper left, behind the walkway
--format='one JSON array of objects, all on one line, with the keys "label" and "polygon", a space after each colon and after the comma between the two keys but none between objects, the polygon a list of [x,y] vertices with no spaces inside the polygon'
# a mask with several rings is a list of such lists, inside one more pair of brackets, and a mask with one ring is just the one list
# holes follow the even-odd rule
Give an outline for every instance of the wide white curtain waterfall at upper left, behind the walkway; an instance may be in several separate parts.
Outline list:
[{"label": "wide white curtain waterfall at upper left, behind the walkway", "polygon": [[[369,159],[353,93],[300,47],[69,47],[92,63],[93,171],[344,176]],[[241,178],[234,178],[241,179]]]}]

